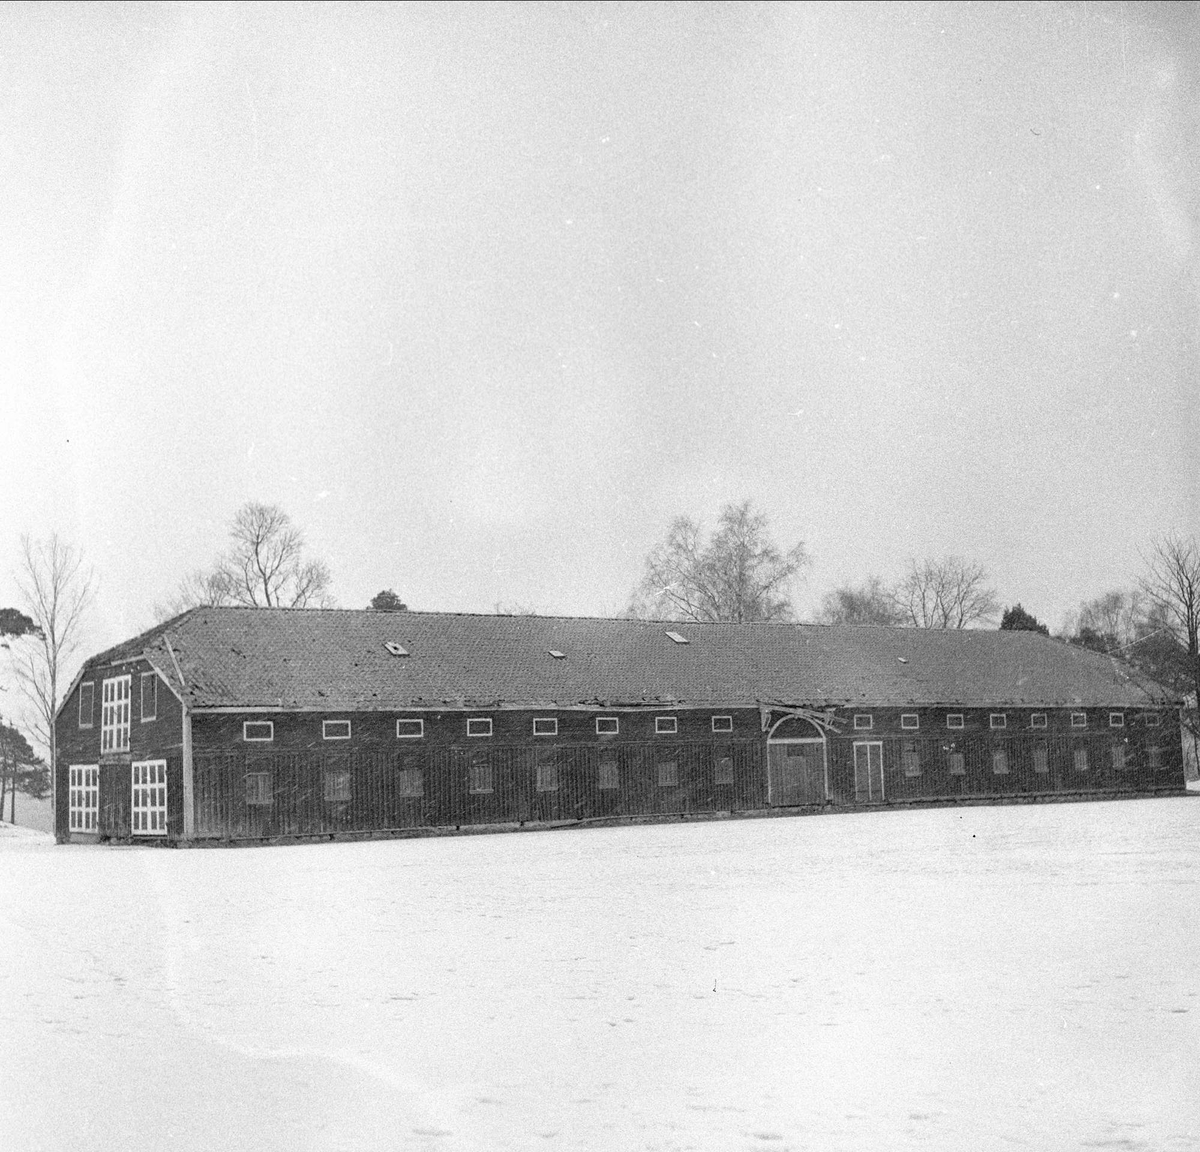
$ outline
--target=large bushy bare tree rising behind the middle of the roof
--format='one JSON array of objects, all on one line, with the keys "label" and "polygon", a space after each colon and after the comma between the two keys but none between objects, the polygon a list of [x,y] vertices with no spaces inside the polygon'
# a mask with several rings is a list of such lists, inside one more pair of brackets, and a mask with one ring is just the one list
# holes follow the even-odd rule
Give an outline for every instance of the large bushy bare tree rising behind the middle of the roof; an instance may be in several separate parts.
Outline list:
[{"label": "large bushy bare tree rising behind the middle of the roof", "polygon": [[808,563],[803,544],[780,552],[750,502],[727,504],[712,538],[680,516],[646,560],[629,614],[674,620],[790,620],[788,586]]}]

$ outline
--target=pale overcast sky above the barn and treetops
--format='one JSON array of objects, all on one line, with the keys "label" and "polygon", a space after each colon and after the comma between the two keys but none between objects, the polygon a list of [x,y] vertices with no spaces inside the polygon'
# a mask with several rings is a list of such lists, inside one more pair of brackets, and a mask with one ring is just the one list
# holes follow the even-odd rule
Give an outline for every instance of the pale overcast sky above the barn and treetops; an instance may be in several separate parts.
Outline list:
[{"label": "pale overcast sky above the barn and treetops", "polygon": [[361,607],[622,608],[749,498],[1057,625],[1198,528],[1192,5],[0,8],[0,604],[283,505]]}]

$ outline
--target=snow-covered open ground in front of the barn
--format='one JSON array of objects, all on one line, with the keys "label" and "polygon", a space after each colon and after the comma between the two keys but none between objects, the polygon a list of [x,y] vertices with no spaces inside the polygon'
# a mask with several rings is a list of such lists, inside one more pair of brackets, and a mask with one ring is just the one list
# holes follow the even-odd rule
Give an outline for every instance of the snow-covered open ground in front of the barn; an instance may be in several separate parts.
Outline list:
[{"label": "snow-covered open ground in front of the barn", "polygon": [[1200,1147],[1200,800],[0,829],[0,1146]]}]

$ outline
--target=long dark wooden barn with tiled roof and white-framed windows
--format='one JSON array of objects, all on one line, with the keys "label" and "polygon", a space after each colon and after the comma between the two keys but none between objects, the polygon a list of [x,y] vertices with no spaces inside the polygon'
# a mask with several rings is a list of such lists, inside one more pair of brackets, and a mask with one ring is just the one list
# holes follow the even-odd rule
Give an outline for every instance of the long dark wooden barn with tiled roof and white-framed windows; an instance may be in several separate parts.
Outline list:
[{"label": "long dark wooden barn with tiled roof and white-framed windows", "polygon": [[194,608],[86,661],[61,841],[1178,792],[1180,701],[1033,632]]}]

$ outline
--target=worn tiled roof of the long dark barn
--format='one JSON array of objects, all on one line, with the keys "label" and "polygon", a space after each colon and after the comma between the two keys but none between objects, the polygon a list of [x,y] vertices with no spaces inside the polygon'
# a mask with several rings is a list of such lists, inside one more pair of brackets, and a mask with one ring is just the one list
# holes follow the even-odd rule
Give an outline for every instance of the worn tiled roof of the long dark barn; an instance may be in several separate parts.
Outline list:
[{"label": "worn tiled roof of the long dark barn", "polygon": [[89,666],[140,655],[199,708],[1176,702],[1127,665],[1015,631],[193,608]]}]

